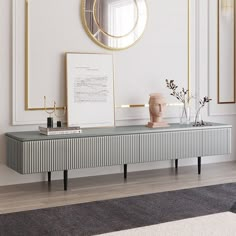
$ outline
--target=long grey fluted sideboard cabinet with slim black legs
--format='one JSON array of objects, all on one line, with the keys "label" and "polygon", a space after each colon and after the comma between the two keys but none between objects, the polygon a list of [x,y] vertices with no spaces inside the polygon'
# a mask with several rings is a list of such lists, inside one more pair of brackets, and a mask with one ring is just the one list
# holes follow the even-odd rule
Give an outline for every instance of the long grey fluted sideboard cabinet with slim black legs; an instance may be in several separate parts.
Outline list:
[{"label": "long grey fluted sideboard cabinet with slim black legs", "polygon": [[170,124],[150,129],[144,126],[83,129],[81,134],[45,136],[38,131],[6,133],[7,165],[21,174],[124,165],[152,161],[198,158],[231,152],[231,125]]}]

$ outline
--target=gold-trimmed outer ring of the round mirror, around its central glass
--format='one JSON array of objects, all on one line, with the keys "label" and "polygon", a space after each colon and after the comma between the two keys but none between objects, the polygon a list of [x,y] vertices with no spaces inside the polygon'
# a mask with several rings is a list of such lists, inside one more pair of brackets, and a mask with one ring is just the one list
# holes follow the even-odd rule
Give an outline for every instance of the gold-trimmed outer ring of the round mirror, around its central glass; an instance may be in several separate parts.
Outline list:
[{"label": "gold-trimmed outer ring of the round mirror, around its central glass", "polygon": [[[86,9],[86,3],[89,3],[89,8]],[[122,50],[127,49],[134,45],[143,35],[148,18],[147,2],[146,0],[134,0],[137,9],[137,19],[134,26],[129,33],[121,36],[111,35],[100,26],[96,17],[96,3],[97,0],[82,0],[81,2],[81,17],[85,31],[89,37],[99,46],[109,50]],[[90,23],[87,21],[87,14],[89,14]],[[95,32],[93,32],[95,31]],[[118,45],[118,46],[116,46]]]}]

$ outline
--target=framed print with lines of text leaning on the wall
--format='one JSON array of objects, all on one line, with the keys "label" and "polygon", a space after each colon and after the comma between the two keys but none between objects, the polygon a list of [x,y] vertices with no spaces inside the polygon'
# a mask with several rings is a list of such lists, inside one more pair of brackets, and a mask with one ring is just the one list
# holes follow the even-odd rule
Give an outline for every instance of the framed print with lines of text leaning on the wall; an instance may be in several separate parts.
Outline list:
[{"label": "framed print with lines of text leaning on the wall", "polygon": [[113,56],[66,54],[68,126],[115,125]]}]

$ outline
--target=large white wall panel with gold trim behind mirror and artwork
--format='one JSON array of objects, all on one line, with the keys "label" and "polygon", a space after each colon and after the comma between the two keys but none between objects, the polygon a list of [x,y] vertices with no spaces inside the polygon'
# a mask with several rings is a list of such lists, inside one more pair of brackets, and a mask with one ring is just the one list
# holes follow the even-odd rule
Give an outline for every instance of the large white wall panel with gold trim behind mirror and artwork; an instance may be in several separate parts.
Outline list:
[{"label": "large white wall panel with gold trim behind mirror and artwork", "polygon": [[[27,53],[26,0],[13,0],[13,124],[45,122],[45,112],[25,111],[25,93],[29,108],[42,108],[44,95],[49,105],[54,100],[58,106],[65,104],[65,52],[113,53],[118,107],[148,103],[153,92],[162,92],[168,103],[176,103],[165,79],[188,87],[189,1],[147,0],[149,19],[144,36],[130,49],[112,52],[88,38],[80,19],[81,1],[29,0]],[[168,107],[166,116],[178,117],[179,110],[178,106]],[[116,119],[148,119],[148,109],[117,108]]]}]

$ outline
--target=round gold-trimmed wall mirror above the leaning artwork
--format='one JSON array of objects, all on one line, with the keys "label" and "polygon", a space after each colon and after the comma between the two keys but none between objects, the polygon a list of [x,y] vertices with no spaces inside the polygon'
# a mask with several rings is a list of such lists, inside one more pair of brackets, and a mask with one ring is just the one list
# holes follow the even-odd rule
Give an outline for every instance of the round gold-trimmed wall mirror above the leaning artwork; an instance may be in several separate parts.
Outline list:
[{"label": "round gold-trimmed wall mirror above the leaning artwork", "polygon": [[82,0],[82,19],[96,43],[107,49],[125,49],[145,30],[146,0]]}]

